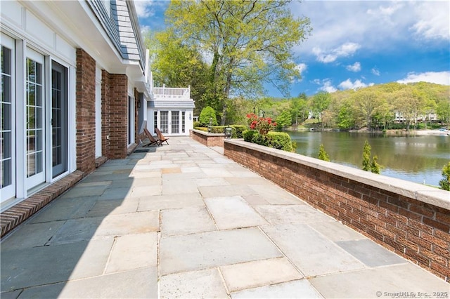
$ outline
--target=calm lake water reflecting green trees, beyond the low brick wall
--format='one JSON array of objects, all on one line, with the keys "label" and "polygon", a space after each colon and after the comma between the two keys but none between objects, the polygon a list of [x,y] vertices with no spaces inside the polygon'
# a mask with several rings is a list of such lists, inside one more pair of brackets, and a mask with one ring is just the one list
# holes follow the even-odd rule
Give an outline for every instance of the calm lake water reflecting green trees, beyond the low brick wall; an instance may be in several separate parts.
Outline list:
[{"label": "calm lake water reflecting green trees, beyond the low brick wall", "polygon": [[362,168],[364,141],[383,165],[382,175],[439,186],[442,167],[450,161],[448,136],[385,136],[349,132],[287,132],[297,142],[297,153],[317,158],[321,143],[330,161]]}]

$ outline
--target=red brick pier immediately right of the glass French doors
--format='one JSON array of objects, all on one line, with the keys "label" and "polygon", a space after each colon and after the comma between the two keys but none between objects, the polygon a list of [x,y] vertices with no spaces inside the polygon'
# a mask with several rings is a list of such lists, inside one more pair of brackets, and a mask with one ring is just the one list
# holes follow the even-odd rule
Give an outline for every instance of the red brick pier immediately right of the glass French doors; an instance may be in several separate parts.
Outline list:
[{"label": "red brick pier immediately right of the glass French doors", "polygon": [[95,169],[96,62],[77,48],[77,168],[84,173]]}]

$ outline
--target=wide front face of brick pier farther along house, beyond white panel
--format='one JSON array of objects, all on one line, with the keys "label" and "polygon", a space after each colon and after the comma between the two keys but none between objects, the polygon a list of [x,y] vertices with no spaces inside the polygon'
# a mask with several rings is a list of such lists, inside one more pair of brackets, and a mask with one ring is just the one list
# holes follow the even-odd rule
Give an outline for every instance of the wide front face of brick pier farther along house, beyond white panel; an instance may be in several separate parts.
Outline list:
[{"label": "wide front face of brick pier farther along house, beyond white panel", "polygon": [[128,78],[124,74],[110,74],[110,159],[127,157],[128,147]]}]

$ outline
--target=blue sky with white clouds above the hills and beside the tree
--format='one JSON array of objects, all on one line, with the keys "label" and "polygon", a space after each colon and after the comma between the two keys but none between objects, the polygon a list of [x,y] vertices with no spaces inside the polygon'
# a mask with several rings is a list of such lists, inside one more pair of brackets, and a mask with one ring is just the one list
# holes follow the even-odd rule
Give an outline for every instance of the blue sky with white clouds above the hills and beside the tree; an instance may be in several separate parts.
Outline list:
[{"label": "blue sky with white clouds above the hills and beside the tree", "polygon": [[[169,1],[136,0],[142,29],[164,29]],[[392,81],[450,86],[450,1],[293,1],[313,28],[293,48],[302,79],[290,95]],[[281,93],[266,86],[267,94]]]}]

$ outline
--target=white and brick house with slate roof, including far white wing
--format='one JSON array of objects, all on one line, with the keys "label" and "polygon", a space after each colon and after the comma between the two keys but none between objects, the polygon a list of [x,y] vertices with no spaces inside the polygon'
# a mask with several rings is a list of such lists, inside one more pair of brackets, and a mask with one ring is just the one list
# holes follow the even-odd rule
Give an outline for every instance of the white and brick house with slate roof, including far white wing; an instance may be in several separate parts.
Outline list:
[{"label": "white and brick house with slate roof, including far white wing", "polygon": [[127,157],[144,126],[192,127],[189,88],[153,88],[133,1],[0,1],[0,31],[1,211]]}]

